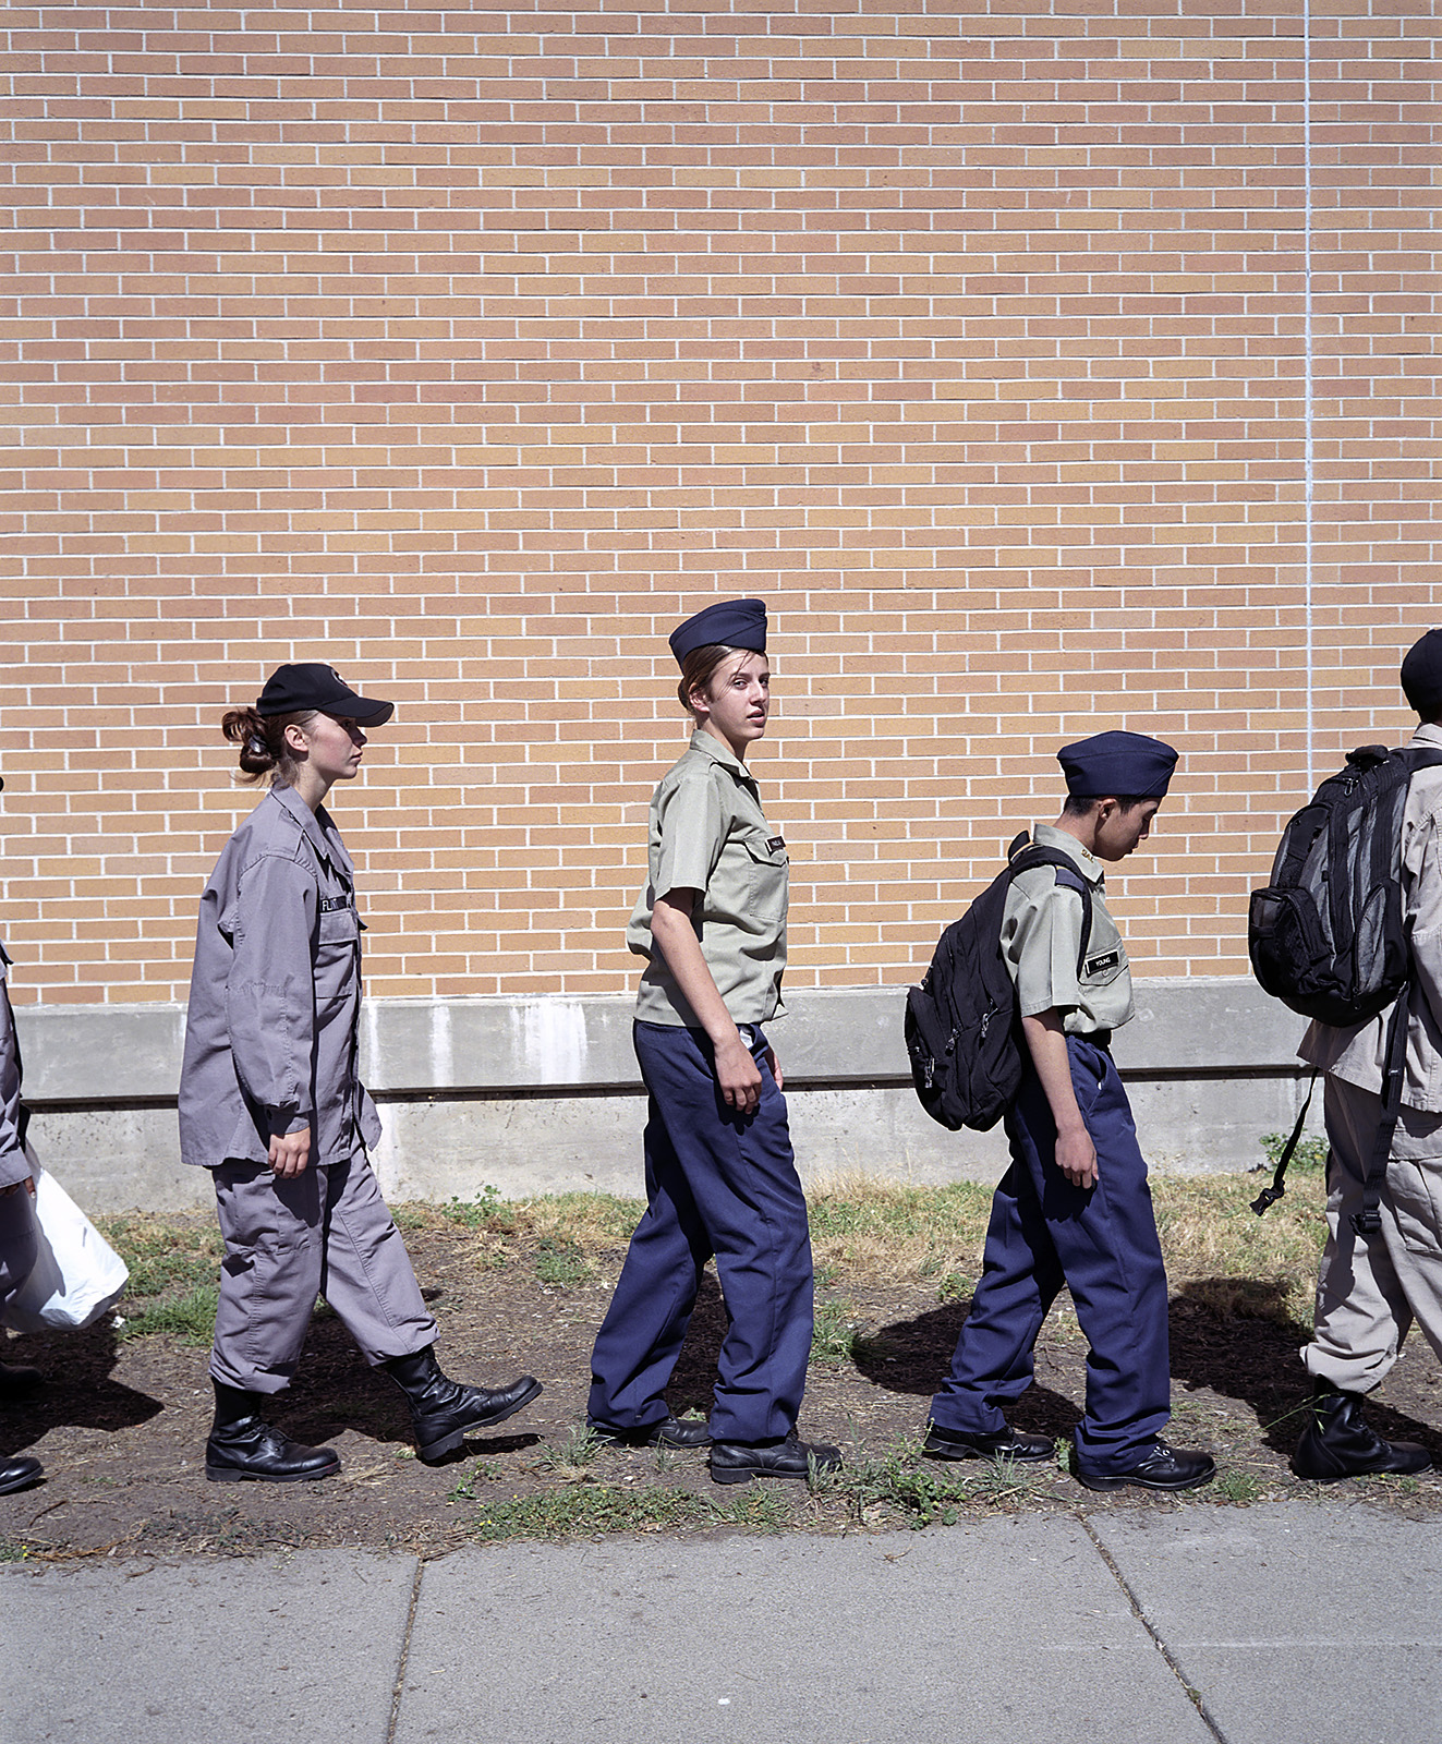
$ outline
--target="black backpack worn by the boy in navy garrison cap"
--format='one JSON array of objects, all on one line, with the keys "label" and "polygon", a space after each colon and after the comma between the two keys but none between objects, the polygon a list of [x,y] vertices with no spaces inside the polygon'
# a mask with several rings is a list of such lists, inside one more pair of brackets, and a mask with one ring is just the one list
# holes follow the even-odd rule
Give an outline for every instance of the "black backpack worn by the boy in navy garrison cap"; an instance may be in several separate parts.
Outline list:
[{"label": "black backpack worn by the boy in navy garrison cap", "polygon": [[[907,992],[905,1038],[912,1083],[926,1113],[949,1132],[987,1132],[1017,1100],[1022,1038],[1017,989],[1001,956],[1006,891],[1018,872],[1055,867],[1057,882],[1081,893],[1081,957],[1092,937],[1092,889],[1058,848],[1037,848],[1024,830],[1006,869],[942,933],[921,987]],[[1078,971],[1081,964],[1078,963]]]}]

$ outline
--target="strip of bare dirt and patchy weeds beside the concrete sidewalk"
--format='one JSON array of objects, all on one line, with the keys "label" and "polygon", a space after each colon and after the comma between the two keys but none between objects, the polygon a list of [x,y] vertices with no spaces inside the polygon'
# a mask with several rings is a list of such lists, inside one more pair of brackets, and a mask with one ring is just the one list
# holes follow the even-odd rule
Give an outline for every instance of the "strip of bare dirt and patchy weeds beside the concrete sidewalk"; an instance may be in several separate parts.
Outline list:
[{"label": "strip of bare dirt and patchy weeds beside the concrete sidewalk", "polygon": [[[1309,1216],[1315,1216],[1309,1212]],[[530,1371],[546,1392],[466,1456],[424,1467],[412,1451],[401,1395],[366,1369],[345,1331],[317,1313],[295,1388],[274,1416],[291,1435],[333,1444],[343,1470],[314,1484],[211,1484],[204,1441],[211,1393],[206,1350],[192,1334],[126,1336],[110,1325],[77,1336],[14,1339],[10,1362],[40,1366],[49,1385],[0,1409],[0,1451],[35,1453],[40,1488],[0,1496],[0,1557],[70,1559],[173,1552],[246,1554],[275,1547],[361,1545],[424,1556],[516,1535],[603,1531],[706,1533],[949,1523],[978,1510],[1105,1510],[1149,1505],[1245,1505],[1271,1496],[1318,1503],[1365,1495],[1405,1512],[1442,1509],[1442,1474],[1299,1484],[1287,1456],[1306,1395],[1297,1346],[1306,1329],[1278,1308],[1282,1287],[1257,1280],[1179,1277],[1172,1263],[1172,1439],[1210,1448],[1219,1479],[1186,1498],[1081,1489],[1060,1467],[1004,1472],[980,1463],[917,1460],[928,1400],[966,1313],[966,1294],[938,1299],[935,1280],[877,1282],[823,1268],[818,1313],[830,1350],[813,1362],[802,1434],[833,1441],[847,1479],[713,1486],[703,1454],[574,1446],[584,1418],[591,1341],[616,1280],[616,1236],[574,1270],[558,1270],[549,1238],[509,1236],[415,1209],[403,1217],[417,1275],[441,1325],[439,1353],[464,1380],[499,1383]],[[201,1240],[206,1219],[167,1219]],[[207,1261],[202,1261],[207,1263]],[[942,1294],[947,1294],[943,1289]],[[134,1313],[131,1306],[124,1311]],[[724,1308],[713,1278],[703,1292],[671,1386],[671,1407],[706,1411]],[[1083,1397],[1085,1339],[1064,1305],[1037,1346],[1036,1385],[1018,1427],[1067,1437]],[[1393,1439],[1442,1458],[1442,1371],[1421,1339],[1369,1407]]]}]

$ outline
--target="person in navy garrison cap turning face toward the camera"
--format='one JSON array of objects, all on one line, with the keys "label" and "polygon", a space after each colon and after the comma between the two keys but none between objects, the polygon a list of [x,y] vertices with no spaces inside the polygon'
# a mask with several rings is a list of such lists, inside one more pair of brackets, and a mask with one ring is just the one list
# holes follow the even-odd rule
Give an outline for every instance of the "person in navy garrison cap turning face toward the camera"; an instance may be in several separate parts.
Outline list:
[{"label": "person in navy garrison cap turning face toward the camera", "polygon": [[[622,1446],[710,1442],[720,1484],[840,1465],[797,1439],[813,1268],[781,1073],[762,1025],[781,1012],[786,844],[746,752],[765,732],[765,607],[724,600],[671,635],[696,724],[650,800],[647,886],[626,942],[647,959],[635,1045],[650,1097],[647,1210],[591,1355],[588,1421]],[[710,1425],[664,1397],[706,1261],[727,1310]]]}]

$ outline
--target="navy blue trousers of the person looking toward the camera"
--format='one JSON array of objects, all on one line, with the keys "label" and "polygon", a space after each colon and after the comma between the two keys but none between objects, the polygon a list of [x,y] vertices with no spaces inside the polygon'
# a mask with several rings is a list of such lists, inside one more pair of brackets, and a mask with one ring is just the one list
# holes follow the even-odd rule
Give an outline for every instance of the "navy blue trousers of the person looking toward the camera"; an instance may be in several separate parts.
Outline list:
[{"label": "navy blue trousers of the person looking toward the camera", "polygon": [[711,1437],[779,1439],[795,1428],[811,1355],[811,1233],[765,1038],[755,1031],[750,1120],[725,1106],[703,1031],[636,1024],[635,1043],[650,1092],[647,1209],[596,1334],[588,1414],[622,1427],[670,1414],[666,1383],[715,1254],[729,1325]]}]

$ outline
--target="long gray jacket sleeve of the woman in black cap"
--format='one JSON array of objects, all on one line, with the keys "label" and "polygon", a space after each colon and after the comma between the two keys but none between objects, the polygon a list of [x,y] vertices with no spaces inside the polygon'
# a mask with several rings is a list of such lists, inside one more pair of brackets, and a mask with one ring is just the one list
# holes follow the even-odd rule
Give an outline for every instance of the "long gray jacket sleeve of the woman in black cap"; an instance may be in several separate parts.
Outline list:
[{"label": "long gray jacket sleeve of the woman in black cap", "polygon": [[316,992],[310,935],[316,881],[295,860],[263,855],[241,875],[225,992],[235,1076],[270,1118],[270,1134],[310,1125]]}]

